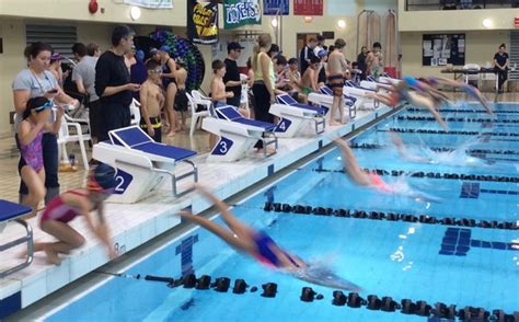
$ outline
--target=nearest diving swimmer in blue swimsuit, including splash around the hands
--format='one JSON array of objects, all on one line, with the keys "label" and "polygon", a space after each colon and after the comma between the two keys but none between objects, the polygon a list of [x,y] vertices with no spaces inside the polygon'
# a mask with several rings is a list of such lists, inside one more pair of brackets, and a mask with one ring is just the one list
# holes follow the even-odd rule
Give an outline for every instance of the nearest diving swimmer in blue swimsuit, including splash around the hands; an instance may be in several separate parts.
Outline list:
[{"label": "nearest diving swimmer in blue swimsuit, including splash around the hands", "polygon": [[322,265],[307,263],[297,255],[282,250],[264,231],[254,230],[238,220],[238,218],[229,211],[229,206],[209,193],[206,188],[199,185],[196,185],[196,187],[206,198],[214,203],[229,229],[226,229],[207,218],[195,216],[185,210],[180,212],[184,219],[198,223],[221,238],[238,251],[253,256],[258,262],[270,268],[284,271],[299,279],[321,286],[344,290],[360,290],[358,286],[338,277],[330,268]]}]

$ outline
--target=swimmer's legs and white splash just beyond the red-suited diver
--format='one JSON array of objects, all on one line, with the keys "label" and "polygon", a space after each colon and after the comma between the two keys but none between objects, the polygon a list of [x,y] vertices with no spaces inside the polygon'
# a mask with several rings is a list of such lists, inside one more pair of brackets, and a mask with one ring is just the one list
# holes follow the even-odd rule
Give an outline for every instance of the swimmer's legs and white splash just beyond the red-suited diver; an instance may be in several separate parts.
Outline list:
[{"label": "swimmer's legs and white splash just beyond the red-suited diver", "polygon": [[408,149],[396,133],[391,131],[390,135],[400,157],[412,162],[453,166],[488,166],[486,160],[469,156],[465,152],[469,147],[477,143],[480,139],[469,140],[452,151],[434,151],[427,147]]}]

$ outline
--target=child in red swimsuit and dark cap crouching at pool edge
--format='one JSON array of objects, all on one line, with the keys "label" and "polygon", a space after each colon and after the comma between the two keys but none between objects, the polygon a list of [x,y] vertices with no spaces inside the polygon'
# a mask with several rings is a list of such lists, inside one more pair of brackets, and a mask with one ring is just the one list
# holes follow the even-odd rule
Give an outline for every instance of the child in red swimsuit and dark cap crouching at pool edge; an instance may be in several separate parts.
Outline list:
[{"label": "child in red swimsuit and dark cap crouching at pool edge", "polygon": [[[104,200],[116,185],[115,170],[104,163],[94,165],[88,180],[88,188],[68,191],[50,200],[39,219],[43,231],[55,237],[56,242],[34,243],[34,252],[45,251],[49,264],[59,265],[58,254],[68,254],[71,250],[84,244],[84,237],[68,225],[78,216],[83,216],[88,227],[103,242],[111,258],[116,256],[108,227],[104,219]],[[90,215],[97,212],[97,225]]]}]

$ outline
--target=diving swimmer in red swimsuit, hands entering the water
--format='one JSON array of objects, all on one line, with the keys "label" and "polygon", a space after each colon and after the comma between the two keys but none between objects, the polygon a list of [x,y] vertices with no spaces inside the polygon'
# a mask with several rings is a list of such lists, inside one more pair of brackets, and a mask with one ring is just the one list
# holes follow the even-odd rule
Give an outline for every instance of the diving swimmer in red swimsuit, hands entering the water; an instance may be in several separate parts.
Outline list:
[{"label": "diving swimmer in red swimsuit, hands entering the water", "polygon": [[358,185],[373,188],[381,193],[413,198],[417,202],[440,203],[441,199],[413,188],[403,177],[394,183],[387,183],[376,173],[366,173],[360,169],[349,146],[342,139],[334,139],[343,154],[345,173]]}]

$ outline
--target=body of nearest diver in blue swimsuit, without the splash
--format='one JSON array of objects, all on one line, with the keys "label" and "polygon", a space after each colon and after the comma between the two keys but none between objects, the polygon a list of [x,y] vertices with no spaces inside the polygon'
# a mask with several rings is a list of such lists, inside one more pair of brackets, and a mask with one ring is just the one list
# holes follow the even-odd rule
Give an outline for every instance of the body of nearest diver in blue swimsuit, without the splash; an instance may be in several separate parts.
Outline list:
[{"label": "body of nearest diver in blue swimsuit, without the splash", "polygon": [[206,188],[199,185],[196,187],[206,198],[215,204],[215,206],[220,211],[223,221],[230,229],[226,229],[207,218],[195,216],[188,211],[181,212],[183,218],[200,225],[201,227],[217,234],[219,238],[223,239],[237,250],[249,253],[258,262],[269,267],[282,268],[287,271],[297,271],[299,268],[307,267],[307,263],[304,263],[298,256],[282,250],[264,231],[256,231],[238,220],[229,211],[229,207],[226,203],[218,199]]}]

